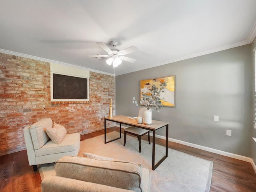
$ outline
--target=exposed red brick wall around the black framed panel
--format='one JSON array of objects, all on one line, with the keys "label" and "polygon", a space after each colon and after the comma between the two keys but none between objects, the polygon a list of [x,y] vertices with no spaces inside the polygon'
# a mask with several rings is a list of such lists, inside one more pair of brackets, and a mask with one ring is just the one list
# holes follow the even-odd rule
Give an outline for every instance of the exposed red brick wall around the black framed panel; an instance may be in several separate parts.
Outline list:
[{"label": "exposed red brick wall around the black framed panel", "polygon": [[90,72],[90,102],[51,102],[50,63],[0,53],[0,156],[26,148],[23,128],[42,118],[68,133],[104,129],[115,77]]}]

